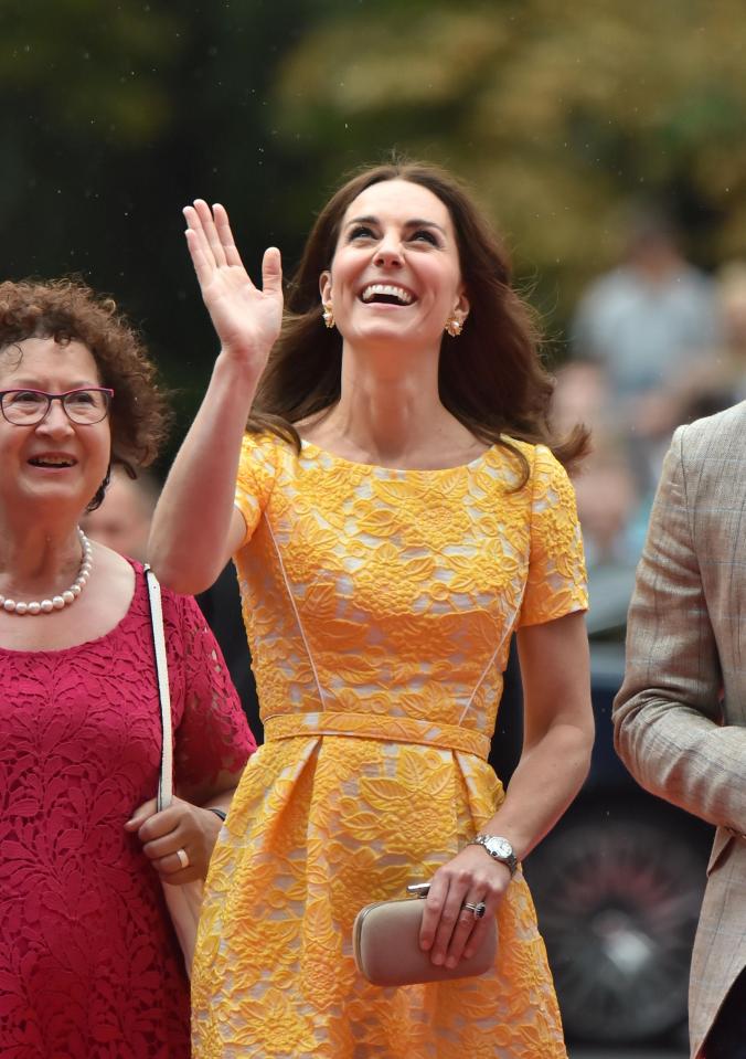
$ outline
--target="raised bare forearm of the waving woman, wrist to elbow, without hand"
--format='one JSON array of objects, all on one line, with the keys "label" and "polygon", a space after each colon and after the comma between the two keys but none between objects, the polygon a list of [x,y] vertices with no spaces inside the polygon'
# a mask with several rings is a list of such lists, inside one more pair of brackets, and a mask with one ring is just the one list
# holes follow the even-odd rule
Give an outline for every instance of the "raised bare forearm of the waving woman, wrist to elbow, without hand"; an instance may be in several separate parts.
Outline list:
[{"label": "raised bare forearm of the waving woman, wrist to elbow, without hand", "polygon": [[220,354],[163,487],[148,558],[163,584],[177,592],[207,589],[228,559],[241,442],[257,381],[235,359]]}]

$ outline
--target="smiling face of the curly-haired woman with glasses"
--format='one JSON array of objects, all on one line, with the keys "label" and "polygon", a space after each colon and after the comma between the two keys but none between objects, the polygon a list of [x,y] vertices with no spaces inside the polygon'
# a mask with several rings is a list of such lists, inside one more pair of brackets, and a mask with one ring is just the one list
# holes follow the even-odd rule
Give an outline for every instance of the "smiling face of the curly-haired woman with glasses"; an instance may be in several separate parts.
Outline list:
[{"label": "smiling face of the curly-haired woman with glasses", "polygon": [[[64,393],[100,384],[90,350],[78,341],[28,338],[0,352],[0,390]],[[106,475],[109,454],[108,419],[71,423],[60,401],[35,426],[0,416],[0,506],[19,511],[41,504],[82,513]]]}]

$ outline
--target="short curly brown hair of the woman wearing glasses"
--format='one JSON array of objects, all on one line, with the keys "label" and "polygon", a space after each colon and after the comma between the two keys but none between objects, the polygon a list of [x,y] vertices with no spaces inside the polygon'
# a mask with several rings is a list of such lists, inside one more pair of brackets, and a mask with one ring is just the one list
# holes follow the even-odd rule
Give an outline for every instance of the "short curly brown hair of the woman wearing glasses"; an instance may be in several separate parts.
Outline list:
[{"label": "short curly brown hair of the woman wearing glasses", "polygon": [[[116,301],[77,278],[0,283],[0,350],[28,338],[78,341],[90,350],[102,385],[114,390],[111,464],[136,478],[136,468],[158,455],[171,413],[156,368]],[[88,510],[102,502],[107,484],[108,474]]]}]

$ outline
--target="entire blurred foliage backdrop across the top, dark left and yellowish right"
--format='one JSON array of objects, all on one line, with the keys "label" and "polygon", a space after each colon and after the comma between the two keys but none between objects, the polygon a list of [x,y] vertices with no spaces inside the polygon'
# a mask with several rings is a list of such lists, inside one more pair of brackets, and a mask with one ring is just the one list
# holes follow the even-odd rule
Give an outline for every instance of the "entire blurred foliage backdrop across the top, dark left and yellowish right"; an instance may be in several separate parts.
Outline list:
[{"label": "entire blurred foliage backdrop across the top, dark left and yellowish right", "polygon": [[746,244],[740,0],[0,0],[2,274],[82,272],[189,416],[214,356],[182,205],[291,271],[340,177],[392,148],[476,188],[555,325],[662,195],[705,265]]}]

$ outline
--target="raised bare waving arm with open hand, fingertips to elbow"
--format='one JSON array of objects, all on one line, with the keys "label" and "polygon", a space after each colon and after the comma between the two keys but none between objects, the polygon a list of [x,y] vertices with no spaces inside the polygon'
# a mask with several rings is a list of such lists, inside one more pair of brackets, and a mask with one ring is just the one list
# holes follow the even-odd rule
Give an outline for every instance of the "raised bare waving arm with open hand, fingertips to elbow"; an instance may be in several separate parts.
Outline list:
[{"label": "raised bare waving arm with open hand, fingertips to elbow", "polygon": [[262,264],[262,289],[236,250],[226,211],[198,199],[184,210],[186,245],[221,343],[210,385],[163,487],[149,542],[161,582],[207,589],[239,546],[245,525],[233,498],[241,442],[283,319],[279,251]]}]

